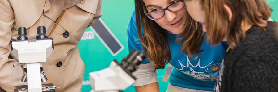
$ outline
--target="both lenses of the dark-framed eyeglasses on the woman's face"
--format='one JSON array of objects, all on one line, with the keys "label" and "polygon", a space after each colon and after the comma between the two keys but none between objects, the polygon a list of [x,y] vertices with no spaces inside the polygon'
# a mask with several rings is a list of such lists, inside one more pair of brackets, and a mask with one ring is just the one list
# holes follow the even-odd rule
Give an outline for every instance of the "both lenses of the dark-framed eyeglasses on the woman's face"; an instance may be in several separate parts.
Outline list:
[{"label": "both lenses of the dark-framed eyeglasses on the woman's face", "polygon": [[[176,2],[175,4],[168,7],[168,10],[171,12],[176,12],[181,10],[185,4],[183,2]],[[159,19],[164,16],[164,10],[157,10],[147,14],[150,19]]]}]

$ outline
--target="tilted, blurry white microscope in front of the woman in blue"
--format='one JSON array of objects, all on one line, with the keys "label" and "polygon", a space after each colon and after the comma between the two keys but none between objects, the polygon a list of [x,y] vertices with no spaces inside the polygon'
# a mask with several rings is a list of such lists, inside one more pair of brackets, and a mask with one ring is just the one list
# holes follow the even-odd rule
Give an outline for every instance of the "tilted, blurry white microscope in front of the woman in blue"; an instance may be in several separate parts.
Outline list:
[{"label": "tilted, blurry white microscope in front of the woman in blue", "polygon": [[120,90],[135,82],[136,78],[131,73],[138,69],[144,59],[143,53],[133,49],[121,63],[113,60],[108,68],[90,72],[90,92],[122,92]]}]

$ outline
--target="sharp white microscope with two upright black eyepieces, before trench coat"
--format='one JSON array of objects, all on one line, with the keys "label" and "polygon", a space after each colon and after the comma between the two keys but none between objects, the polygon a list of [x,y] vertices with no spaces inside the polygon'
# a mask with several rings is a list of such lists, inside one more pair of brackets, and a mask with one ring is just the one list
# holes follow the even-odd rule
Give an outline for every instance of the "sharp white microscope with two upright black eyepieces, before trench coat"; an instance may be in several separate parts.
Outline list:
[{"label": "sharp white microscope with two upright black eyepieces, before trench coat", "polygon": [[52,53],[54,45],[53,38],[47,37],[44,26],[39,26],[37,33],[36,39],[28,39],[26,28],[20,27],[17,40],[11,40],[11,49],[19,63],[14,64],[14,67],[24,67],[22,82],[26,82],[28,78],[27,87],[26,85],[17,86],[22,88],[14,89],[16,92],[55,92],[55,89],[59,88],[49,85],[42,86],[41,84],[41,82],[47,81],[42,63],[46,62],[46,58]]}]

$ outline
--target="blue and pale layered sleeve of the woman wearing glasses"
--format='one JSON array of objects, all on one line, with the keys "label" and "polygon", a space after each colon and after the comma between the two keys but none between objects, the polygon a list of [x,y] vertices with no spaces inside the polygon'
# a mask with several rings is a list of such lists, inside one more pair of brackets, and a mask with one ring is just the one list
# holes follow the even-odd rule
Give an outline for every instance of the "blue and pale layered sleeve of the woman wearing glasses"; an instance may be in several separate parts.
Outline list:
[{"label": "blue and pale layered sleeve of the woman wearing glasses", "polygon": [[[133,10],[132,17],[128,25],[128,50],[130,52],[132,49],[136,49],[137,51],[142,52],[141,45],[142,43],[139,41],[139,36],[137,34],[135,11]],[[156,69],[152,63],[148,62],[146,59],[132,74],[137,78],[133,86],[143,86],[158,82]]]}]

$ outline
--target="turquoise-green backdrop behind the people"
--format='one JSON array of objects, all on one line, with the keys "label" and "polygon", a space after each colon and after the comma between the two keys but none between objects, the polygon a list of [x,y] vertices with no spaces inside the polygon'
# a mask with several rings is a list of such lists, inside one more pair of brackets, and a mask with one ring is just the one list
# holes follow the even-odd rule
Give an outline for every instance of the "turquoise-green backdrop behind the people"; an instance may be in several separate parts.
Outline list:
[{"label": "turquoise-green backdrop behind the people", "polygon": [[[271,18],[278,21],[278,0],[266,0],[272,8]],[[86,1],[85,1],[86,3]],[[112,55],[102,41],[97,37],[91,28],[87,28],[82,40],[78,44],[80,56],[85,63],[85,74],[82,84],[82,92],[91,90],[89,83],[89,72],[98,71],[109,67],[112,60],[121,59],[128,55],[127,28],[134,8],[133,0],[103,0],[101,16],[102,21],[111,30],[112,35],[123,45],[122,50]],[[161,92],[167,89],[167,82],[162,78],[165,70],[158,70],[159,88]],[[133,86],[128,87],[124,92],[136,92]]]}]

